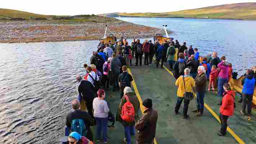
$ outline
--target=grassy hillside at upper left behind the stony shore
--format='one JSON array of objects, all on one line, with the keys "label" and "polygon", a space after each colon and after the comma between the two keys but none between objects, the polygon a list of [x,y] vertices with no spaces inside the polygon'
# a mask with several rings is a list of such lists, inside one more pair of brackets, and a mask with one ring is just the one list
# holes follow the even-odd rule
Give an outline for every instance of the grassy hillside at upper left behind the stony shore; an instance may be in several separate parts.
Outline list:
[{"label": "grassy hillside at upper left behind the stony shore", "polygon": [[0,18],[30,18],[30,17],[47,18],[47,17],[51,17],[51,16],[23,12],[23,11],[19,11],[19,10],[1,9],[0,8]]}]

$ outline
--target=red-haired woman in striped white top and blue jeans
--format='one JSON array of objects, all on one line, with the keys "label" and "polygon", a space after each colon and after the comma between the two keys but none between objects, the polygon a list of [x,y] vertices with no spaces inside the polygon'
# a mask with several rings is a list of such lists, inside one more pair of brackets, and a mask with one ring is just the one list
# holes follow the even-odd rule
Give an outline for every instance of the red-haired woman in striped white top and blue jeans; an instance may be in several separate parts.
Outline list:
[{"label": "red-haired woman in striped white top and blue jeans", "polygon": [[108,126],[108,104],[104,100],[105,92],[104,90],[98,90],[98,97],[93,100],[93,115],[96,120],[96,141],[99,142],[101,139],[101,132],[103,131],[103,143],[107,144],[110,139],[107,138],[107,126]]}]

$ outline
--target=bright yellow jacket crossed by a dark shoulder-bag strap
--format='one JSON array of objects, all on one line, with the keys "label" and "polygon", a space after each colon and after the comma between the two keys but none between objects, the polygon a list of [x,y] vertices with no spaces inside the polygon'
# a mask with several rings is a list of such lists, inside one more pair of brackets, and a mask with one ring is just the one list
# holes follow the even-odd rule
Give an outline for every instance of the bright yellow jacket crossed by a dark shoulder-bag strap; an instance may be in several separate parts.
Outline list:
[{"label": "bright yellow jacket crossed by a dark shoulder-bag strap", "polygon": [[[185,77],[185,83],[186,83],[186,92],[193,92],[192,87],[196,86],[196,82],[192,77]],[[181,98],[184,97],[185,94],[185,87],[183,82],[183,76],[180,76],[176,82],[175,85],[178,86],[177,95]]]}]

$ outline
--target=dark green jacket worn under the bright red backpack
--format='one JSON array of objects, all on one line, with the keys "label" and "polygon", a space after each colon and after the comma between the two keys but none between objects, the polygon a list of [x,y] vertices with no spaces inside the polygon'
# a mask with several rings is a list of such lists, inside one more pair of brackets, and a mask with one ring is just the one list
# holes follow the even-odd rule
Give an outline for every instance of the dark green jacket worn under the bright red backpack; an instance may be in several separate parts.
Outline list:
[{"label": "dark green jacket worn under the bright red backpack", "polygon": [[121,102],[119,104],[117,113],[116,113],[116,121],[121,122],[122,125],[125,126],[125,127],[135,125],[135,122],[137,122],[138,119],[139,119],[138,111],[139,111],[139,107],[140,107],[140,102],[139,102],[137,96],[135,95],[135,93],[127,93],[126,95],[128,96],[129,101],[133,104],[133,107],[135,109],[135,121],[132,122],[132,123],[128,123],[126,121],[123,121],[122,118],[121,118],[122,107],[127,102],[125,97],[123,96],[123,98],[121,99]]}]

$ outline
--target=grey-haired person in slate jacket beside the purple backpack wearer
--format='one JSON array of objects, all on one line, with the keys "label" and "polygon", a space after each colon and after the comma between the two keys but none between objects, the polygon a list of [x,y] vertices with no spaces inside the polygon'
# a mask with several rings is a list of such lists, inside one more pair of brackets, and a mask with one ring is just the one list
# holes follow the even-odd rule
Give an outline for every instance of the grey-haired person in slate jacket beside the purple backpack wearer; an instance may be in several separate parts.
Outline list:
[{"label": "grey-haired person in slate jacket beside the purple backpack wearer", "polygon": [[118,76],[120,75],[120,67],[121,67],[121,62],[118,58],[116,58],[116,54],[112,54],[112,60],[110,62],[110,68],[109,71],[111,71],[111,81],[113,85],[112,92],[116,91],[117,89],[119,90],[118,86]]}]

